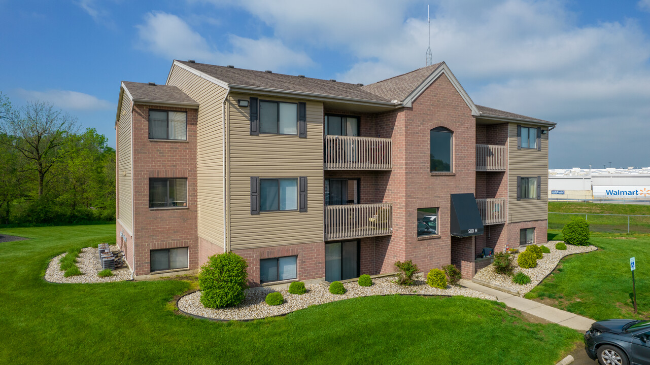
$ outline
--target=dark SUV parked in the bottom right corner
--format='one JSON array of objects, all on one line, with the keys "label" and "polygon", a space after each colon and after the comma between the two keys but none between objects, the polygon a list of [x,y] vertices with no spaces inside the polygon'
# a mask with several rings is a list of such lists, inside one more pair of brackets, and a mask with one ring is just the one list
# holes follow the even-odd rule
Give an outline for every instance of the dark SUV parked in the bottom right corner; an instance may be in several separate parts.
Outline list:
[{"label": "dark SUV parked in the bottom right corner", "polygon": [[584,334],[584,347],[603,365],[650,365],[650,321],[597,321]]}]

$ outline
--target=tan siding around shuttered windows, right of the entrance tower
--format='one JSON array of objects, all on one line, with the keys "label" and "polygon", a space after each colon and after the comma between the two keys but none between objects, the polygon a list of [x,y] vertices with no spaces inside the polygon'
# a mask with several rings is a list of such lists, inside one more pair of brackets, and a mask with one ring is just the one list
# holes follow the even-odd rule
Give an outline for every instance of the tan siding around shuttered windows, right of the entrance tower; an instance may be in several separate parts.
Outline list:
[{"label": "tan siding around shuttered windows, right of the entrance tower", "polygon": [[[521,124],[522,127],[536,125]],[[547,127],[542,127],[542,131]],[[517,201],[517,176],[541,176],[541,199]],[[517,123],[508,126],[508,222],[546,220],[549,211],[549,134],[541,135],[541,151],[517,149]]]}]

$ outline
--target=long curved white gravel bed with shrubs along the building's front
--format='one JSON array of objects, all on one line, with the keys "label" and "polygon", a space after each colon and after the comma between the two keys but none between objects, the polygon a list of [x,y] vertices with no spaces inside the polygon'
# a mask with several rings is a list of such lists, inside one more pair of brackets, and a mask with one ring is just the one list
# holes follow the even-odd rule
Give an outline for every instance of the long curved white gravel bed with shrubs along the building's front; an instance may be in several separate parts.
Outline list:
[{"label": "long curved white gravel bed with shrubs along the building's front", "polygon": [[[178,308],[189,314],[214,318],[218,320],[253,320],[287,314],[294,310],[307,308],[310,305],[329,303],[355,297],[367,297],[390,294],[428,294],[439,296],[466,296],[478,297],[481,299],[496,300],[489,294],[478,292],[469,288],[447,286],[446,290],[432,288],[424,281],[416,281],[413,286],[400,286],[391,281],[395,277],[382,277],[372,279],[372,286],[359,286],[356,281],[344,283],[347,292],[341,295],[331,294],[328,287],[321,284],[305,284],[307,292],[300,296],[289,294],[289,289],[272,290],[270,288],[251,288],[246,290],[244,303],[231,308],[205,308],[201,304],[201,292],[194,292],[181,297],[178,301]],[[285,302],[281,305],[268,305],[264,301],[266,294],[270,292],[281,292]]]}]

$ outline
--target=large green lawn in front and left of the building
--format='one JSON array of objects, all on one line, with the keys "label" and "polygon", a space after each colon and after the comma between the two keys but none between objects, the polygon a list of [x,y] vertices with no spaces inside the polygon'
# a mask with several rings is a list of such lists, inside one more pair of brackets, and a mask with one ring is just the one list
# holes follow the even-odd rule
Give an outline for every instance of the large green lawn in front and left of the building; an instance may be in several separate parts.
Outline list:
[{"label": "large green lawn in front and left of the building", "polygon": [[580,340],[465,297],[363,297],[270,320],[194,320],[168,304],[187,281],[42,280],[49,258],[112,242],[114,226],[3,233],[33,238],[0,243],[3,364],[554,364]]}]

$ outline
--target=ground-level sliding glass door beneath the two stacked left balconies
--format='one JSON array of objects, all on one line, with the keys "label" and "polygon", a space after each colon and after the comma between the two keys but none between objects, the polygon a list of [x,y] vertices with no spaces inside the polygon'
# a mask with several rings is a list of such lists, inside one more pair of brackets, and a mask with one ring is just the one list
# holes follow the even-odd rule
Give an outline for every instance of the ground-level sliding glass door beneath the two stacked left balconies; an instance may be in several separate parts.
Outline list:
[{"label": "ground-level sliding glass door beneath the two stacked left balconies", "polygon": [[340,281],[359,277],[359,242],[325,244],[325,280]]}]

